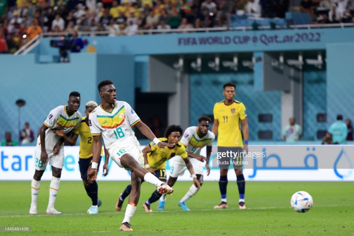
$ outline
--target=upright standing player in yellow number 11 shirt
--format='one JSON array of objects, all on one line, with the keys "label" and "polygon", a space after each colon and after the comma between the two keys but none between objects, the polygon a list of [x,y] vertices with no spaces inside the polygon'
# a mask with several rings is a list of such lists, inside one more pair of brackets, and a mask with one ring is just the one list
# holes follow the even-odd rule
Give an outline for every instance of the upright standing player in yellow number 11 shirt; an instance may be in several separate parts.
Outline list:
[{"label": "upright standing player in yellow number 11 shirt", "polygon": [[[219,165],[220,167],[220,180],[219,188],[221,193],[221,203],[215,206],[214,209],[227,208],[226,203],[226,187],[227,187],[227,171],[230,163],[230,158],[235,162],[233,167],[237,177],[237,185],[239,187],[239,209],[246,209],[245,205],[245,177],[242,172],[243,163],[243,150],[248,152],[248,124],[247,124],[247,113],[246,107],[242,102],[234,100],[236,95],[236,85],[232,83],[226,83],[223,86],[224,100],[217,102],[214,105],[214,124],[212,127],[212,132],[218,136],[218,155],[225,156],[218,159],[220,163],[225,163]],[[241,124],[242,133],[244,137],[245,144],[242,142],[241,134]],[[239,153],[236,156],[231,156],[229,153]],[[226,155],[225,155],[226,154]]]}]

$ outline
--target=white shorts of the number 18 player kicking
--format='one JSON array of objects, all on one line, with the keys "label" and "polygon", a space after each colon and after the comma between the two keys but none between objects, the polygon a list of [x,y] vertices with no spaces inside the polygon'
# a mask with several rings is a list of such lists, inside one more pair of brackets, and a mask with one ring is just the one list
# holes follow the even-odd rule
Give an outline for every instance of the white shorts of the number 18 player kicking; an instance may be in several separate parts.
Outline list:
[{"label": "white shorts of the number 18 player kicking", "polygon": [[141,151],[140,144],[138,141],[135,143],[122,143],[117,146],[109,148],[110,158],[120,167],[131,171],[130,168],[124,167],[121,164],[121,157],[124,154],[131,154],[133,158],[139,163],[139,165],[144,168],[144,157],[143,152]]}]

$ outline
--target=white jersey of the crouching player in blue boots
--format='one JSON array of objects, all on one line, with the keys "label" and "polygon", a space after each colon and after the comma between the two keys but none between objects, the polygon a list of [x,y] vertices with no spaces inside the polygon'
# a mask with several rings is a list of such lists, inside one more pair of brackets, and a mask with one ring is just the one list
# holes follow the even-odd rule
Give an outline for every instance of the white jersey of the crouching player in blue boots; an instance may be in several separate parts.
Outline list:
[{"label": "white jersey of the crouching player in blue boots", "polygon": [[215,140],[215,135],[213,132],[208,130],[208,133],[203,138],[200,138],[197,134],[198,127],[192,126],[188,127],[183,134],[181,143],[186,146],[186,151],[200,155],[201,149],[205,146],[212,146]]}]

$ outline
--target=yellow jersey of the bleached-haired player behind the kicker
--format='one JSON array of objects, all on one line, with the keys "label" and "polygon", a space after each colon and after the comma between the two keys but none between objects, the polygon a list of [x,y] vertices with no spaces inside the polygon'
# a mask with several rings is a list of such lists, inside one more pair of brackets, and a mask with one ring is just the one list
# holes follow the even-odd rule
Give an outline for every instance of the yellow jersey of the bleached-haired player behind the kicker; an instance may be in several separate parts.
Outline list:
[{"label": "yellow jersey of the bleached-haired player behind the kicker", "polygon": [[[93,145],[93,137],[91,136],[90,127],[85,122],[86,116],[83,117],[78,128],[74,130],[75,134],[80,135],[80,152],[78,156],[82,159],[91,158],[92,154],[92,145]],[[101,150],[101,156],[103,154],[103,148]]]}]

